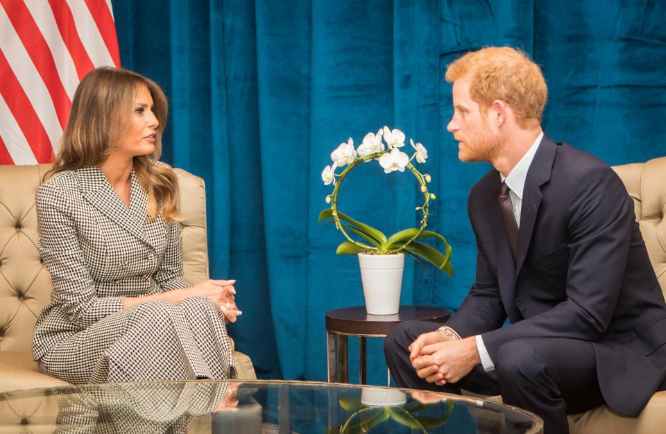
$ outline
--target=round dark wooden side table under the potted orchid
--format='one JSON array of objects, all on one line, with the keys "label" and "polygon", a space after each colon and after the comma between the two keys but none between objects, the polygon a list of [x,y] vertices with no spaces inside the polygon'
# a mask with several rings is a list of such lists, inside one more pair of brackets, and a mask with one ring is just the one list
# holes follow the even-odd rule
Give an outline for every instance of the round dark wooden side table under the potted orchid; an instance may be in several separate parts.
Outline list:
[{"label": "round dark wooden side table under the potted orchid", "polygon": [[368,315],[365,306],[345,307],[326,313],[327,369],[329,383],[349,382],[348,336],[359,337],[359,383],[366,384],[366,338],[384,338],[399,322],[422,320],[446,322],[447,309],[431,306],[400,306],[395,315]]}]

